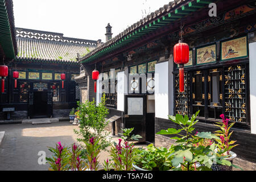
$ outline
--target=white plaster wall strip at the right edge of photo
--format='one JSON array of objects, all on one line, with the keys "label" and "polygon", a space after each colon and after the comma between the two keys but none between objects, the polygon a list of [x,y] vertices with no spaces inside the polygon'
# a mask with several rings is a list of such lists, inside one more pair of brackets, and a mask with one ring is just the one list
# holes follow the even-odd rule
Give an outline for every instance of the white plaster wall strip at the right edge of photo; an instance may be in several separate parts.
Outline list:
[{"label": "white plaster wall strip at the right edge of photo", "polygon": [[249,44],[251,133],[256,134],[256,42]]}]

